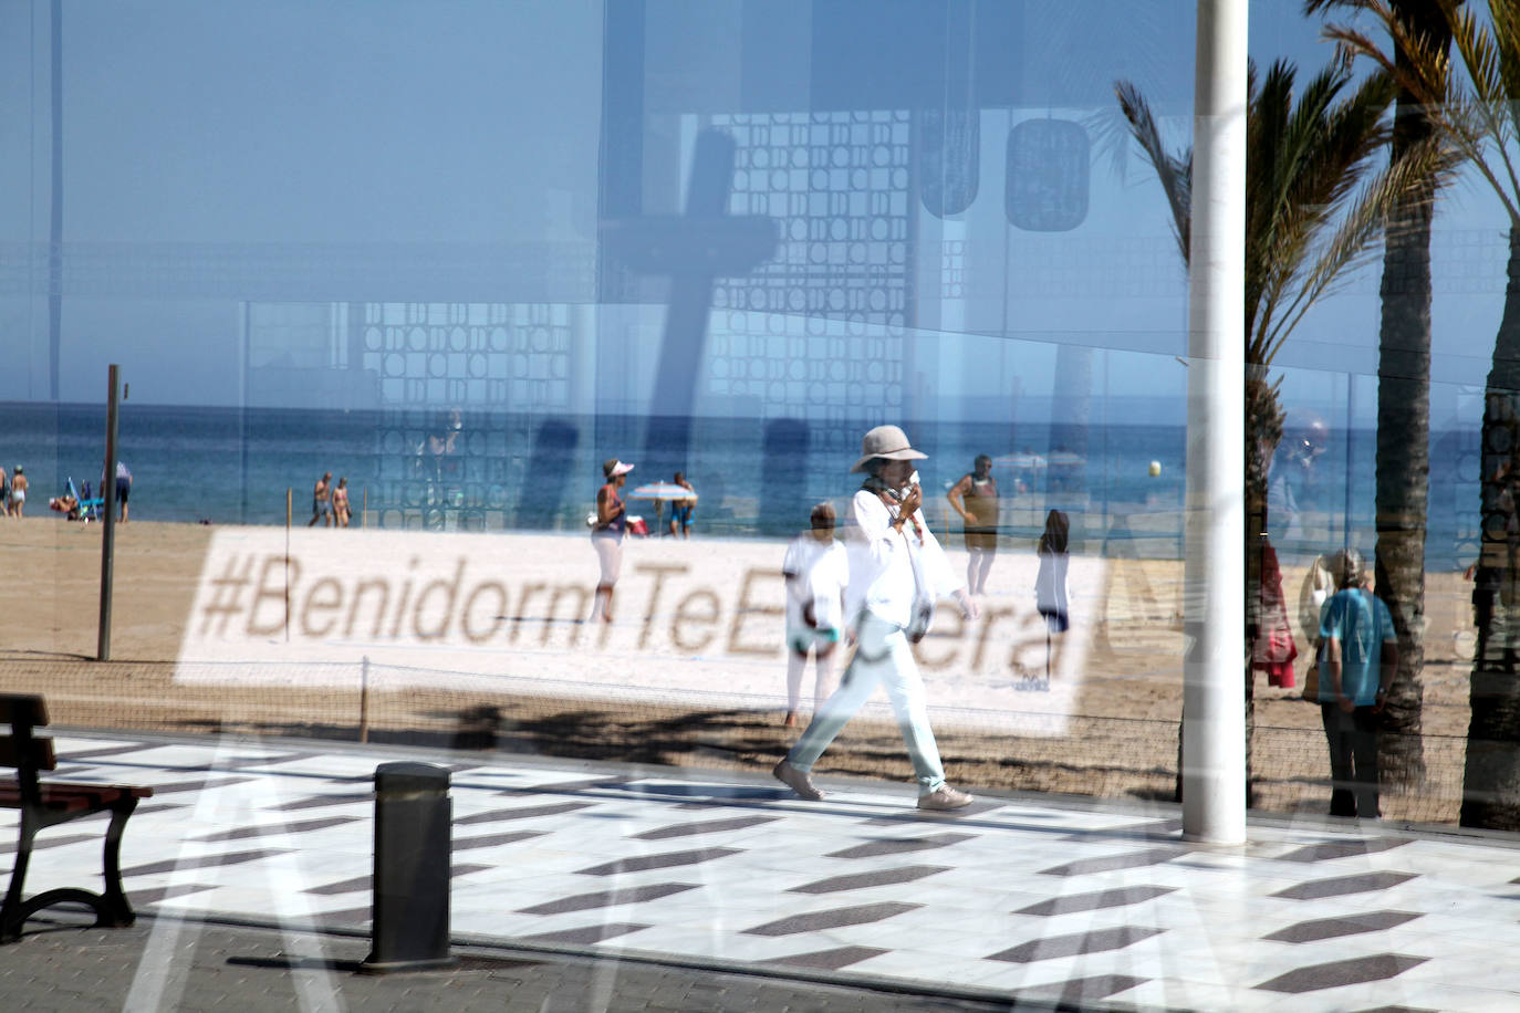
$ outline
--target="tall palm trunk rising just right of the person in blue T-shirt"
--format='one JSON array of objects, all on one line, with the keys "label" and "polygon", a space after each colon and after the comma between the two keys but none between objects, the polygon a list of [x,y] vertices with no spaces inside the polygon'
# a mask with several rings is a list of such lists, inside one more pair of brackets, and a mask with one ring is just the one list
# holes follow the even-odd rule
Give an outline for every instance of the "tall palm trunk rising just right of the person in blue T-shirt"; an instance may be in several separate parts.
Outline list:
[{"label": "tall palm trunk rising just right of the person in blue T-shirt", "polygon": [[[1304,14],[1344,8],[1345,0],[1307,0]],[[1436,0],[1392,0],[1406,29],[1446,53],[1452,29]],[[1408,55],[1394,53],[1395,80],[1408,77]],[[1426,106],[1400,85],[1391,156],[1433,137]],[[1424,782],[1424,547],[1430,498],[1430,216],[1436,179],[1395,208],[1383,246],[1382,319],[1377,349],[1377,592],[1398,635],[1398,671],[1383,712],[1379,772],[1385,782]]]}]

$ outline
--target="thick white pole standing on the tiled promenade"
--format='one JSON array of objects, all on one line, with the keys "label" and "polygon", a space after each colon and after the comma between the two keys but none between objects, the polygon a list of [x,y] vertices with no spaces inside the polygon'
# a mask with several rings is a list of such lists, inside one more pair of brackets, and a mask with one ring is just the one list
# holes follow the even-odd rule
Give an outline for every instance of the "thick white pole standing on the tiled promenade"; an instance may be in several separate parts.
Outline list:
[{"label": "thick white pole standing on the tiled promenade", "polygon": [[1183,835],[1245,843],[1246,0],[1198,0]]}]

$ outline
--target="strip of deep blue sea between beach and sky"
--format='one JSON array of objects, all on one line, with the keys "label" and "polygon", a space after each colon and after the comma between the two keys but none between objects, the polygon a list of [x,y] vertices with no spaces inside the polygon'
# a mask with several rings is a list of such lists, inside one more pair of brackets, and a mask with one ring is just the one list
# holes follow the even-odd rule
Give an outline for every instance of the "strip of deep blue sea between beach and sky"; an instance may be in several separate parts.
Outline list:
[{"label": "strip of deep blue sea between beach and sky", "polygon": [[[920,480],[939,509],[942,492],[994,459],[1011,545],[1038,538],[1046,512],[1072,515],[1079,550],[1180,557],[1186,428],[1181,425],[901,422],[929,459]],[[631,415],[544,416],[471,410],[450,440],[451,419],[418,410],[275,410],[125,402],[119,457],[134,475],[132,519],[284,524],[312,515],[324,474],[348,480],[356,524],[584,530],[606,457],[635,462],[625,492],[686,472],[698,491],[693,535],[778,538],[806,524],[819,500],[839,504],[857,488],[848,474],[859,425],[793,419],[696,418],[679,453],[651,442],[672,427]],[[73,480],[99,489],[105,407],[0,404],[0,465],[21,465],[29,515]],[[433,440],[430,443],[430,440]],[[432,447],[450,447],[444,454]],[[1371,550],[1376,431],[1332,431],[1300,507],[1312,522],[1298,539],[1274,538],[1286,560],[1325,548]],[[1427,566],[1453,570],[1476,554],[1477,447],[1471,430],[1430,436]],[[652,515],[654,503],[641,504]],[[958,519],[956,519],[958,521]]]}]

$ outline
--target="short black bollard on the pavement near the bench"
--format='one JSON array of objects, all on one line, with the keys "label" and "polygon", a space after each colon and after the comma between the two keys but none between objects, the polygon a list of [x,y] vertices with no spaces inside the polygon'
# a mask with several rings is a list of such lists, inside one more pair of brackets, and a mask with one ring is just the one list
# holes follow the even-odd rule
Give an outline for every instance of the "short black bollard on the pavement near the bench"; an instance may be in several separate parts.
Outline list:
[{"label": "short black bollard on the pavement near the bench", "polygon": [[447,768],[418,762],[375,767],[374,928],[363,970],[430,970],[458,963],[448,954],[451,823]]}]

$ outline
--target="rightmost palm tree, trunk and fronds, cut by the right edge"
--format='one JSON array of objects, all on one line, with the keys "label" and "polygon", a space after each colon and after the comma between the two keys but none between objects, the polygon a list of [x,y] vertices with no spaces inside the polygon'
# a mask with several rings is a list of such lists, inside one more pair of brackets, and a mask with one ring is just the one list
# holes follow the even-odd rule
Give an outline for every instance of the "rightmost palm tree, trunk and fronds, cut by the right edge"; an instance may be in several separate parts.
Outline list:
[{"label": "rightmost palm tree, trunk and fronds, cut by the right edge", "polygon": [[[1459,0],[1435,0],[1452,32],[1462,76],[1446,47],[1400,18],[1388,0],[1354,0],[1347,6],[1373,14],[1394,39],[1394,55],[1366,33],[1330,26],[1325,35],[1351,53],[1374,59],[1398,77],[1436,131],[1446,135],[1503,202],[1509,216],[1509,264],[1505,307],[1494,337],[1484,399],[1482,547],[1477,560],[1477,650],[1468,688],[1471,720],[1462,773],[1465,826],[1520,829],[1520,600],[1515,519],[1520,475],[1520,0],[1488,0],[1487,18]],[[1403,59],[1400,59],[1400,56]]]}]

